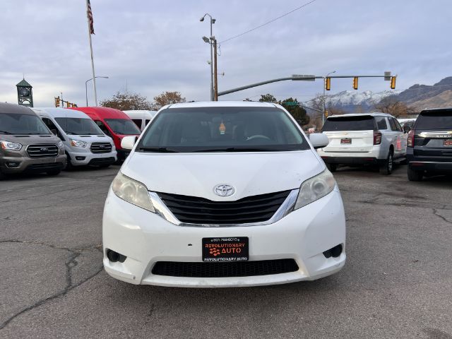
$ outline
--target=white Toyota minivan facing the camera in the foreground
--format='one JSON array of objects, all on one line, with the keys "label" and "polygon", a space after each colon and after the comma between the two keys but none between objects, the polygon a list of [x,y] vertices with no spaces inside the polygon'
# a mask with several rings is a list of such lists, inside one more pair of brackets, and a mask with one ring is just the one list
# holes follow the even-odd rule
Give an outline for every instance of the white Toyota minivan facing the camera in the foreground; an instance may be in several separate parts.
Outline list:
[{"label": "white Toyota minivan facing the camera in the foreground", "polygon": [[[160,109],[110,186],[104,267],[132,284],[234,287],[315,280],[345,264],[338,185],[280,105]],[[138,139],[138,140],[137,140]]]}]

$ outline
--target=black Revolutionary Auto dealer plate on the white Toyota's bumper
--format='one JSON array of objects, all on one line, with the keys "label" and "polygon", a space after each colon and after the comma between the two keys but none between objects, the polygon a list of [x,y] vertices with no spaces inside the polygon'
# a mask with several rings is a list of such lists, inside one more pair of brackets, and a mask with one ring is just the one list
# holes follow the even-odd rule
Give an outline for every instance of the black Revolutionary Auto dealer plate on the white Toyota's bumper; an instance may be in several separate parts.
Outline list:
[{"label": "black Revolutionary Auto dealer plate on the white Toyota's bumper", "polygon": [[247,261],[248,237],[203,238],[203,261]]}]

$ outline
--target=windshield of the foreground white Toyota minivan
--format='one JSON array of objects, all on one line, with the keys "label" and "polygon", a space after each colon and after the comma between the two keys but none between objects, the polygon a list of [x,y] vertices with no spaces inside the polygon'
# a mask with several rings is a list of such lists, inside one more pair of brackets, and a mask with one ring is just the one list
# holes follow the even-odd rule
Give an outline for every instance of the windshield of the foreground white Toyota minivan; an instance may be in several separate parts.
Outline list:
[{"label": "windshield of the foreground white Toyota minivan", "polygon": [[245,152],[307,150],[287,114],[276,107],[174,108],[160,112],[138,152]]}]

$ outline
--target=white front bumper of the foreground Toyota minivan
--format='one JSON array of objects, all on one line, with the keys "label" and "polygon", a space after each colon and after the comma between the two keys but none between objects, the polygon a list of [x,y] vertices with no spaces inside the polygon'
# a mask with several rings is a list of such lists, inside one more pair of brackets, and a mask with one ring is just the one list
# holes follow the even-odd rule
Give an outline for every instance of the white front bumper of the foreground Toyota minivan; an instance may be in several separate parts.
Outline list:
[{"label": "white front bumper of the foreground Toyota minivan", "polygon": [[[180,287],[236,287],[315,280],[338,272],[345,251],[326,258],[323,251],[342,244],[345,214],[336,188],[331,194],[270,225],[249,227],[186,227],[121,200],[109,191],[103,217],[104,267],[109,275],[132,284]],[[249,237],[249,261],[294,259],[299,270],[273,275],[230,278],[186,278],[156,275],[157,261],[202,263],[203,237]],[[107,249],[126,256],[112,262]]]}]

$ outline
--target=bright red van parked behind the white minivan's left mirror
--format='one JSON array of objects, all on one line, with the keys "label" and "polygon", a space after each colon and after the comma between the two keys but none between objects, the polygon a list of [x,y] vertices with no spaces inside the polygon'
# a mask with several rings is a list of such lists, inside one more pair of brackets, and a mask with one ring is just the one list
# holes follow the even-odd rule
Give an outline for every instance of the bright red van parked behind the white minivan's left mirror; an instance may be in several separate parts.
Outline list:
[{"label": "bright red van parked behind the white minivan's left mirror", "polygon": [[118,160],[125,160],[129,150],[121,148],[121,139],[124,136],[139,136],[141,131],[135,123],[119,109],[108,107],[73,107],[88,115],[102,131],[114,141],[118,153]]}]

